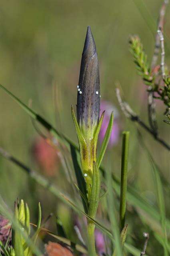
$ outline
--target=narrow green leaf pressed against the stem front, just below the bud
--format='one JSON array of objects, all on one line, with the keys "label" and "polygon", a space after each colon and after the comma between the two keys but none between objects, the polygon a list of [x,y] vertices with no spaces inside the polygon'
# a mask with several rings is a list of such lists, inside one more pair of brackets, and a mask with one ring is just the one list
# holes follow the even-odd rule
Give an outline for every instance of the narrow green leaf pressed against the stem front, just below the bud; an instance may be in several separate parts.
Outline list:
[{"label": "narrow green leaf pressed against the stem front, just below the bud", "polygon": [[88,209],[88,215],[91,218],[96,217],[99,196],[100,196],[100,171],[98,169],[96,162],[93,162],[93,183],[92,183],[92,192],[90,196],[90,205]]}]

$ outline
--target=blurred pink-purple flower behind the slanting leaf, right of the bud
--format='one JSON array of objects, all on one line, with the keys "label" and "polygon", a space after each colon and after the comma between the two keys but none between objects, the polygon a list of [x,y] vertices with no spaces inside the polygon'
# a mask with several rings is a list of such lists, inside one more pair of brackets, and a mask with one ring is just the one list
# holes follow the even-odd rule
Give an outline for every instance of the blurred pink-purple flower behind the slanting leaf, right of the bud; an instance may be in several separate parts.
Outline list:
[{"label": "blurred pink-purple flower behind the slanting leaf, right of the bud", "polygon": [[108,127],[108,123],[110,120],[110,115],[113,111],[114,113],[114,123],[113,123],[113,128],[112,128],[112,132],[110,135],[110,140],[109,140],[109,147],[111,148],[113,145],[118,143],[119,140],[119,133],[120,133],[120,127],[118,124],[118,110],[117,108],[112,105],[110,102],[107,101],[102,101],[100,104],[100,115],[102,114],[102,112],[105,110],[105,114],[104,114],[104,120],[102,123],[102,127],[100,129],[100,133],[99,133],[99,140],[102,143],[103,139],[104,139],[104,135],[106,133],[107,127]]}]

